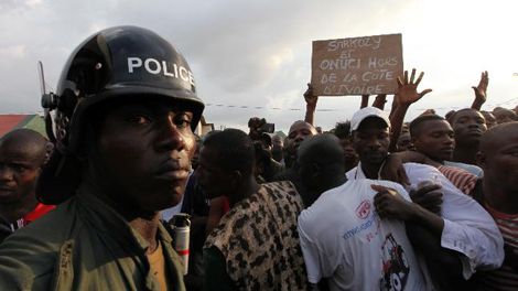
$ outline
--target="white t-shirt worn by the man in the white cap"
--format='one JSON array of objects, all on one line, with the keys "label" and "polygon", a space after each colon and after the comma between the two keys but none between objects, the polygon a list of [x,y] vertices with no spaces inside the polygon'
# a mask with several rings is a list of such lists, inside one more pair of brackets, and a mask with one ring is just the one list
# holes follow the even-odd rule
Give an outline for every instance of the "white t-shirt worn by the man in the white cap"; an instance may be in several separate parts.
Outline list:
[{"label": "white t-shirt worn by the man in the white cap", "polygon": [[[476,269],[498,268],[504,261],[504,239],[492,216],[472,197],[456,188],[438,169],[418,163],[406,163],[410,188],[431,180],[442,186],[441,217],[444,228],[441,246],[461,256],[463,276],[468,279]],[[365,179],[361,164],[346,173],[347,179]]]}]

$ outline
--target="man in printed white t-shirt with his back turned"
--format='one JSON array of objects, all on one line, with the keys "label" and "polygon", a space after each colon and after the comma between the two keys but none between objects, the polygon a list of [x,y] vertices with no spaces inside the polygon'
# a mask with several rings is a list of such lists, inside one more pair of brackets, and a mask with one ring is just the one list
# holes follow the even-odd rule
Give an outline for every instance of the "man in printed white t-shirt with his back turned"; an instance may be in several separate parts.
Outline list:
[{"label": "man in printed white t-shirt with his back turned", "polygon": [[387,194],[410,203],[404,188],[388,181],[346,182],[343,150],[331,134],[304,141],[298,155],[301,180],[322,193],[299,216],[309,281],[331,290],[430,290],[404,223],[381,218],[374,207]]}]

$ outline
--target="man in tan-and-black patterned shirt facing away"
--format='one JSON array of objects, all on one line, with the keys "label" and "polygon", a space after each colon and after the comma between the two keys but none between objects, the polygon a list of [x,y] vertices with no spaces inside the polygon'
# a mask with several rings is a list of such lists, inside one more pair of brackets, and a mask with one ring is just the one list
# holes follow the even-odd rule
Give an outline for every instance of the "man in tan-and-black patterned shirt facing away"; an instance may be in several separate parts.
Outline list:
[{"label": "man in tan-and-black patterned shirt facing away", "polygon": [[199,154],[199,184],[225,195],[230,211],[208,235],[204,290],[305,290],[296,231],[302,200],[290,182],[259,185],[253,143],[237,129],[208,136]]}]

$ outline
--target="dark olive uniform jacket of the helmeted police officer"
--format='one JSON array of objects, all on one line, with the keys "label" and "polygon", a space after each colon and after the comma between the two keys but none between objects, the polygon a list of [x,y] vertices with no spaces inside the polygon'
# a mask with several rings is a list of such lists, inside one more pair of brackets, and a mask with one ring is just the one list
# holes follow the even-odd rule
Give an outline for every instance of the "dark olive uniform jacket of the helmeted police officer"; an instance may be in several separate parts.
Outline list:
[{"label": "dark olive uniform jacket of the helmeted police officer", "polygon": [[[160,225],[168,285],[185,290],[171,236]],[[55,211],[0,245],[0,290],[160,290],[148,242],[111,207],[80,186]]]}]

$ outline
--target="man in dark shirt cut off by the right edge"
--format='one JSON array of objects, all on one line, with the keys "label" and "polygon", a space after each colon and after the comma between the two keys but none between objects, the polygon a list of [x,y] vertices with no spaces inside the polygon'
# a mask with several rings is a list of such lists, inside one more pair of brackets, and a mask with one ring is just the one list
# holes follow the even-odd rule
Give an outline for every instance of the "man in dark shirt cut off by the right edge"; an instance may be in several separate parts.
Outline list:
[{"label": "man in dark shirt cut off by the right edge", "polygon": [[484,181],[475,198],[495,218],[506,257],[499,269],[477,274],[474,289],[518,290],[518,122],[489,129],[482,138],[477,160]]}]

